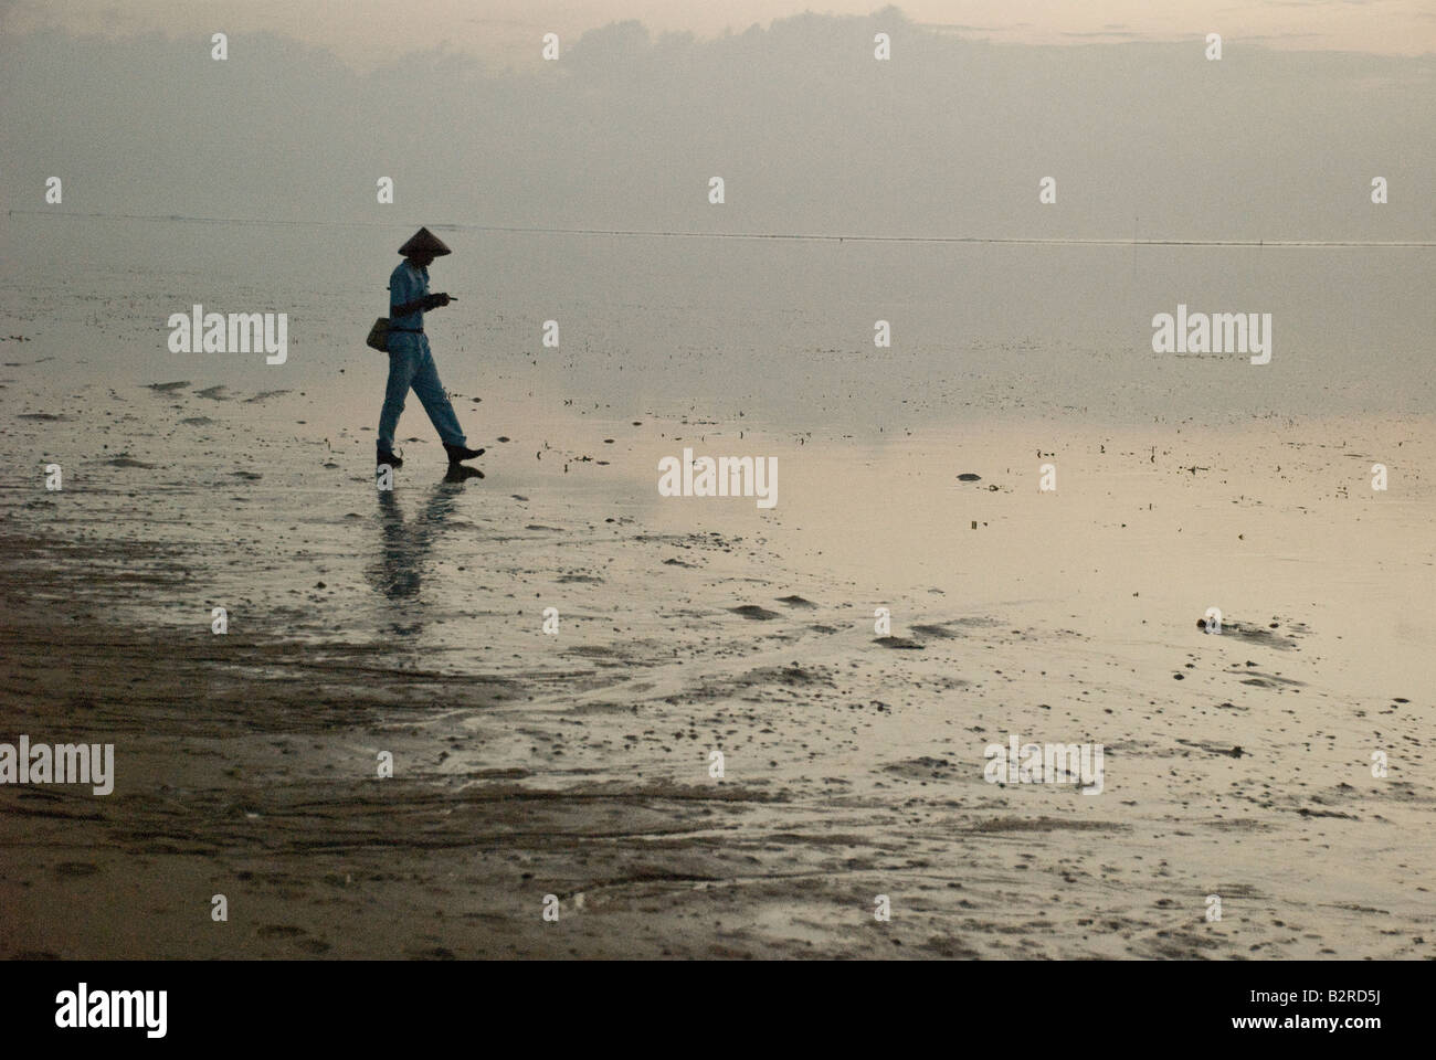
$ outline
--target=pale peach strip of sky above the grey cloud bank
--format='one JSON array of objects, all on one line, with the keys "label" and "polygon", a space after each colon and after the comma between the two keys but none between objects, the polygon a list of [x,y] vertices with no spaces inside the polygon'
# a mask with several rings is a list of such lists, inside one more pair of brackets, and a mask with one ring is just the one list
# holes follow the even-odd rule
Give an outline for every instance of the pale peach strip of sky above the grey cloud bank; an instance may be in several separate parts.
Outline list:
[{"label": "pale peach strip of sky above the grey cloud bank", "polygon": [[[872,0],[0,0],[0,26],[106,36],[269,30],[360,70],[395,52],[431,47],[521,69],[540,62],[544,33],[563,45],[612,22],[638,20],[655,36],[715,37],[803,11],[866,16],[885,7]],[[908,0],[898,7],[922,26],[1012,45],[1170,42],[1215,32],[1271,47],[1436,53],[1432,0]]]}]

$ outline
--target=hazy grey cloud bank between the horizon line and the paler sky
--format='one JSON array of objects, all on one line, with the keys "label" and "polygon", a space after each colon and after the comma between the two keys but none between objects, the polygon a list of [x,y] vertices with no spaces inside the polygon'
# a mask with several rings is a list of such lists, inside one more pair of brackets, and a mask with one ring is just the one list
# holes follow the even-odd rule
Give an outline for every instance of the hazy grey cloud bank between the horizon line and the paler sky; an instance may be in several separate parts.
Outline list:
[{"label": "hazy grey cloud bank between the horizon line and the paler sky", "polygon": [[0,36],[0,207],[53,208],[60,177],[67,213],[899,237],[1436,230],[1436,56],[1226,39],[1213,62],[1200,34],[1007,45],[883,11],[729,37],[606,23],[528,69],[391,49],[360,70],[327,50],[337,23],[264,10],[264,29],[227,30],[224,62],[201,33]]}]

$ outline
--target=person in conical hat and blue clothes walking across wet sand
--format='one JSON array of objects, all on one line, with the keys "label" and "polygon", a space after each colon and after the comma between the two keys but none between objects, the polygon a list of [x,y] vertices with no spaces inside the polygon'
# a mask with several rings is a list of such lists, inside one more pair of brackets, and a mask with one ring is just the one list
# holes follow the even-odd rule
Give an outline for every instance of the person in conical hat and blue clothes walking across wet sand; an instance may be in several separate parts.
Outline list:
[{"label": "person in conical hat and blue clothes walking across wet sand", "polygon": [[404,261],[389,276],[389,383],[383,392],[383,411],[379,412],[378,464],[401,467],[393,455],[393,432],[404,412],[404,399],[409,388],[419,395],[424,411],[429,414],[434,429],[439,432],[449,464],[484,455],[482,450],[468,448],[464,428],[458,425],[454,406],[449,404],[439,371],[429,353],[429,340],[424,335],[424,313],[447,306],[448,294],[429,294],[429,264],[435,257],[451,253],[444,241],[428,228],[419,228],[414,237],[399,247]]}]

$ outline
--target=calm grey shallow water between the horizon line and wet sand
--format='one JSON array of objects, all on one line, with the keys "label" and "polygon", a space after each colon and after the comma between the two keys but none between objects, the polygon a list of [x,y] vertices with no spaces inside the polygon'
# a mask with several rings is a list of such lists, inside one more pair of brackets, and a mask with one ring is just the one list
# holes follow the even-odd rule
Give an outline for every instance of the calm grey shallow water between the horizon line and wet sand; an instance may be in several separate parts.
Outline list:
[{"label": "calm grey shallow water between the horizon line and wet sand", "polygon": [[[33,339],[6,361],[53,358],[47,373],[76,382],[304,391],[332,414],[307,417],[327,435],[356,429],[378,415],[382,355],[363,336],[386,312],[398,231],[0,218],[3,330]],[[460,302],[429,329],[465,396],[860,438],[1055,411],[1099,424],[1436,411],[1430,248],[447,237],[457,253],[432,287]],[[287,363],[169,353],[165,320],[195,303],[287,312]],[[1271,313],[1272,362],[1153,353],[1152,317],[1178,303]],[[546,320],[559,349],[541,345]],[[875,348],[876,320],[890,349]]]}]

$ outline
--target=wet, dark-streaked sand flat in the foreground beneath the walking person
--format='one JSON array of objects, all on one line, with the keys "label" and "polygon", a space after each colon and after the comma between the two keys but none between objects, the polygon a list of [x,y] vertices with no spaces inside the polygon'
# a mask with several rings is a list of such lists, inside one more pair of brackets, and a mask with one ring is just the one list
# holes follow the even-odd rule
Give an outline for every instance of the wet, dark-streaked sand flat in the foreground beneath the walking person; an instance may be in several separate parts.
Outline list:
[{"label": "wet, dark-streaked sand flat in the foreground beneath the walking person", "polygon": [[[118,776],[0,787],[0,955],[1433,954],[1429,421],[511,392],[465,412],[484,478],[412,441],[382,496],[323,395],[151,382],[4,371],[0,740]],[[661,498],[684,445],[777,455],[777,507]],[[1010,734],[1103,744],[1103,791],[985,783]]]}]

